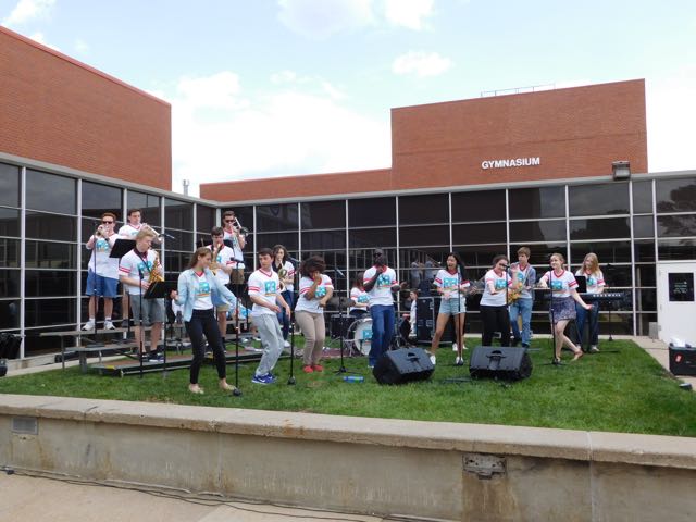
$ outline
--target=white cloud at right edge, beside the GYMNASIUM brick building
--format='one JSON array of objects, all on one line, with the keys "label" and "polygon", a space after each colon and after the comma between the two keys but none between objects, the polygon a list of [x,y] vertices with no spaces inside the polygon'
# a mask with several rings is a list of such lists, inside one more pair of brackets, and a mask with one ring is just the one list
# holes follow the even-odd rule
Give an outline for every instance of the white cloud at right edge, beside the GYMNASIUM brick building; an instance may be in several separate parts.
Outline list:
[{"label": "white cloud at right edge, beside the GYMNASIUM brick building", "polygon": [[648,162],[650,172],[696,169],[696,66],[671,77],[646,78]]}]

